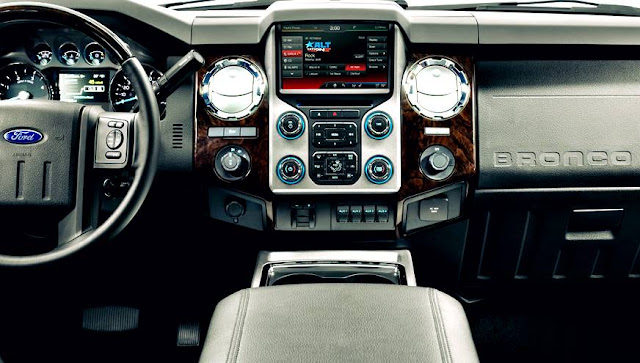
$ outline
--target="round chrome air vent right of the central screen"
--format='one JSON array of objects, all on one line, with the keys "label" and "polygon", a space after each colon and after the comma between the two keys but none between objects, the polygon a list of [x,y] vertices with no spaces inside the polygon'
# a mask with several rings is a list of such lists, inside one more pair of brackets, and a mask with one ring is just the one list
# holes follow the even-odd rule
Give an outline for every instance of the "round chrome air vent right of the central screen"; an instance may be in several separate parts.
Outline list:
[{"label": "round chrome air vent right of the central screen", "polygon": [[402,86],[411,106],[431,120],[459,114],[469,101],[469,80],[462,67],[446,58],[423,58],[404,74]]}]

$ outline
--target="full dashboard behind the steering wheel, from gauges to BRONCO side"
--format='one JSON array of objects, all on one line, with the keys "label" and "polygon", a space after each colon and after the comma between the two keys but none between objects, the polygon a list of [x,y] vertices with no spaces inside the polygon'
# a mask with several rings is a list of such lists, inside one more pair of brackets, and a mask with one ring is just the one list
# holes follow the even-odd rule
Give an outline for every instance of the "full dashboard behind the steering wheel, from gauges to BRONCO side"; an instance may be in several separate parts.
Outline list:
[{"label": "full dashboard behind the steering wheel, from gauges to BRONCO side", "polygon": [[[205,58],[160,105],[159,169],[196,178],[222,229],[409,245],[448,283],[640,277],[637,18],[69,4],[121,35],[151,82],[188,49]],[[134,108],[98,43],[12,26],[1,99]],[[96,181],[103,213],[123,178]]]}]

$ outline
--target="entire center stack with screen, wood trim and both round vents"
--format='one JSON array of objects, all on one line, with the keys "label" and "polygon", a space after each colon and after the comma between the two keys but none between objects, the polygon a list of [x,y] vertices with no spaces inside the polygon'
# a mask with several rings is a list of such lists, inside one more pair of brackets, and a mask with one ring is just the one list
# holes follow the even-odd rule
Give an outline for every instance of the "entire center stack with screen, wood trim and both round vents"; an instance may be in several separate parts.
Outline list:
[{"label": "entire center stack with screen, wood trim and both round vents", "polygon": [[[195,166],[213,218],[395,239],[462,215],[473,63],[380,21],[286,21],[204,48]],[[224,52],[224,53],[222,53]]]}]

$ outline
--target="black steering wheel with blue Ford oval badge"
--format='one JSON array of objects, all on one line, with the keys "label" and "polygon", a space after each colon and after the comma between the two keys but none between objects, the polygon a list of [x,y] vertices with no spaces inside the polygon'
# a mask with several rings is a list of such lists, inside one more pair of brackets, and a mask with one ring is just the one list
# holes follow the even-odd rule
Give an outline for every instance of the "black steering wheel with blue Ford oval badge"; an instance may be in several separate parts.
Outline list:
[{"label": "black steering wheel with blue Ford oval badge", "polygon": [[[157,166],[160,113],[147,75],[127,44],[96,20],[62,6],[0,5],[0,26],[33,21],[75,29],[104,46],[136,90],[139,111],[107,112],[100,106],[60,101],[0,101],[0,211],[31,224],[57,224],[58,235],[52,250],[0,255],[0,266],[56,261],[114,237],[140,209]],[[115,211],[103,223],[87,226],[83,191],[92,169],[126,170],[133,180]]]}]

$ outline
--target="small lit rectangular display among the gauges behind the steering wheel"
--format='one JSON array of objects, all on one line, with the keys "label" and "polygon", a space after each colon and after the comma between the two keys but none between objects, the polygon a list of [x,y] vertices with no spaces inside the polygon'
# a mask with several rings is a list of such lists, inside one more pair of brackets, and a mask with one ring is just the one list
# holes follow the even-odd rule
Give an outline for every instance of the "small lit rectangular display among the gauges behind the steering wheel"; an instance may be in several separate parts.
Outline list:
[{"label": "small lit rectangular display among the gauges behind the steering wheel", "polygon": [[109,102],[109,71],[61,72],[58,79],[60,101],[77,103]]}]

